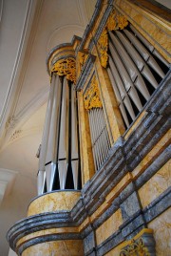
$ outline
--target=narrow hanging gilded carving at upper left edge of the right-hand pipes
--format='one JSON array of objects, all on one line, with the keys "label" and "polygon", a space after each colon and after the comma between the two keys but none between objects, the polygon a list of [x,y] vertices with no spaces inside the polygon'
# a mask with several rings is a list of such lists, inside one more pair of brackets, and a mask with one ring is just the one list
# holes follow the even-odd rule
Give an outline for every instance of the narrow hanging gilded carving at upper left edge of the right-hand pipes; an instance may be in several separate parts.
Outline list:
[{"label": "narrow hanging gilded carving at upper left edge of the right-hand pipes", "polygon": [[108,60],[108,54],[107,54],[107,50],[108,50],[108,34],[107,34],[107,30],[104,29],[104,32],[102,32],[98,43],[97,43],[97,47],[98,47],[98,52],[100,54],[100,59],[101,59],[101,65],[106,68],[107,65],[107,60]]}]

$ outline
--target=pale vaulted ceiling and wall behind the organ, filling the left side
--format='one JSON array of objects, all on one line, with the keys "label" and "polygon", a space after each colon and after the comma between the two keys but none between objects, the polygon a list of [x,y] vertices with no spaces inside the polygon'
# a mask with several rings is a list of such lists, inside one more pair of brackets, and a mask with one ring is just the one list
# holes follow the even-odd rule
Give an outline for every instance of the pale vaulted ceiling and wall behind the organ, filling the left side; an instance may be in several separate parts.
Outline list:
[{"label": "pale vaulted ceiling and wall behind the organ, filling the left side", "polygon": [[47,53],[82,36],[96,0],[0,0],[0,226],[26,217],[36,196],[38,160],[47,108]]}]

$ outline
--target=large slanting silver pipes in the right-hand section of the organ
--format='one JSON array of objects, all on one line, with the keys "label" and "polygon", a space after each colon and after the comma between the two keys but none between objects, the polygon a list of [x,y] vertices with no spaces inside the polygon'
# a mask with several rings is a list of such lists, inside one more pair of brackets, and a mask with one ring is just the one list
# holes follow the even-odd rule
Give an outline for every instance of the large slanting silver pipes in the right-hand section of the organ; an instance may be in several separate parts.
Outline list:
[{"label": "large slanting silver pipes in the right-hand section of the organ", "polygon": [[107,73],[128,128],[158,88],[169,63],[132,25],[109,32],[108,55]]}]

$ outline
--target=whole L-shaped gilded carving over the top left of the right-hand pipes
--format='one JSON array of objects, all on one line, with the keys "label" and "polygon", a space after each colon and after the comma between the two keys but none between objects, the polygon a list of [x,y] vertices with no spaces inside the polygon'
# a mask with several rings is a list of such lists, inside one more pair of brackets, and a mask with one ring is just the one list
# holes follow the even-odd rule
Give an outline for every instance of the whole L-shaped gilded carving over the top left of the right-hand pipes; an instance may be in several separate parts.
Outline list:
[{"label": "whole L-shaped gilded carving over the top left of the right-hand pipes", "polygon": [[104,31],[102,32],[97,43],[98,52],[100,53],[101,65],[104,68],[106,68],[107,61],[108,61],[108,54],[107,54],[108,33],[107,32],[123,30],[127,25],[128,25],[128,21],[122,14],[119,14],[117,11],[111,12],[110,16],[108,17]]}]

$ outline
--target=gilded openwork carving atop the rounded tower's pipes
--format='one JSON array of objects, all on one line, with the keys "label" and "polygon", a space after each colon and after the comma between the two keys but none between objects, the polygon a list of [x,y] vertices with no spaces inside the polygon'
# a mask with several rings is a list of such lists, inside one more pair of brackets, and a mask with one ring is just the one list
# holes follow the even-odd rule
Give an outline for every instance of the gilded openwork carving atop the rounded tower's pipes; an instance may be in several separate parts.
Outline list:
[{"label": "gilded openwork carving atop the rounded tower's pipes", "polygon": [[76,64],[72,57],[58,60],[51,69],[51,74],[66,75],[66,79],[76,84]]}]

